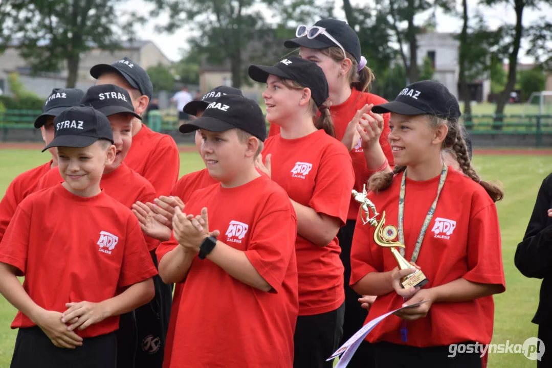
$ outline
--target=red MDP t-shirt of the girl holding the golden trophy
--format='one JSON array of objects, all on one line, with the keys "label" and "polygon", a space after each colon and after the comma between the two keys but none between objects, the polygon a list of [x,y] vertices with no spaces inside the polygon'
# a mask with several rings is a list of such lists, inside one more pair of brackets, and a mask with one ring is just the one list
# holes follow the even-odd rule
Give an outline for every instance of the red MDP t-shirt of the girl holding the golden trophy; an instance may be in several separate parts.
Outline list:
[{"label": "red MDP t-shirt of the girl holding the golden trophy", "polygon": [[[395,175],[389,189],[368,194],[378,212],[386,212],[388,225],[397,226],[402,175]],[[406,179],[404,228],[408,260],[438,185],[439,176],[420,182]],[[397,265],[389,249],[374,243],[373,234],[374,227],[357,221],[351,249],[351,285],[370,272],[390,271]],[[416,264],[429,280],[424,287],[459,278],[505,287],[496,206],[481,185],[454,169],[449,168]],[[399,308],[402,303],[402,297],[394,291],[378,296],[366,320]],[[494,311],[492,296],[468,302],[433,303],[426,317],[406,322],[408,342],[402,342],[400,335],[404,320],[393,315],[378,324],[367,340],[418,347],[465,341],[489,344]]]}]

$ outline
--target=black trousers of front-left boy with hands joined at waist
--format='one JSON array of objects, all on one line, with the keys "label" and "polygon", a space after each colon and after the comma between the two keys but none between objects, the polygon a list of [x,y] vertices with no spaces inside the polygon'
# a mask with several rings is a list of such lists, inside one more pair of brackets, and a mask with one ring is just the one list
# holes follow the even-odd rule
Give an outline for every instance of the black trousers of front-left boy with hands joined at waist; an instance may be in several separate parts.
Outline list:
[{"label": "black trousers of front-left boy with hands joined at waist", "polygon": [[116,368],[115,333],[86,338],[75,349],[57,348],[39,327],[20,328],[10,368]]}]

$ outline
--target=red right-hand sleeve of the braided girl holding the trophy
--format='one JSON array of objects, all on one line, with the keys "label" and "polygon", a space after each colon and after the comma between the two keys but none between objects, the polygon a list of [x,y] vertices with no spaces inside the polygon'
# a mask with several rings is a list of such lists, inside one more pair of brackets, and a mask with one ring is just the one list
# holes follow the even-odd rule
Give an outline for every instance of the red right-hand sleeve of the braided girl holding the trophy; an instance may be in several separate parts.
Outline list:
[{"label": "red right-hand sleeve of the braided girl holding the trophy", "polygon": [[[479,201],[476,197],[474,200]],[[476,212],[468,228],[468,273],[464,279],[481,284],[501,284],[506,290],[502,266],[500,227],[495,204]]]}]

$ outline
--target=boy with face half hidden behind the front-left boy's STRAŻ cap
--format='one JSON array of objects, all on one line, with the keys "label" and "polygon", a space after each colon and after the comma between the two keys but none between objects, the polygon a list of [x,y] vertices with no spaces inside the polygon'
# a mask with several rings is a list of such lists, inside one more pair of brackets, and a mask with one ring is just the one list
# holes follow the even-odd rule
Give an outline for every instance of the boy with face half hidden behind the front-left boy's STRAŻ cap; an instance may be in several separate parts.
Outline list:
[{"label": "boy with face half hidden behind the front-left boy's STRA\u017b cap", "polygon": [[[125,157],[132,143],[132,119],[140,119],[134,112],[129,93],[114,84],[93,86],[87,90],[82,104],[91,105],[107,115],[113,131],[116,156],[113,163],[104,169],[100,183],[102,189],[128,209],[131,209],[136,201],[153,201],[156,193],[151,183],[125,164]],[[40,180],[39,186],[48,188],[59,184],[60,181],[59,170],[52,169]],[[145,234],[144,237],[151,257],[156,262],[155,248],[159,241]],[[148,367],[162,365],[165,326],[168,326],[171,314],[171,286],[165,285],[159,276],[155,276],[153,281],[156,289],[155,299],[120,318],[120,328],[117,331],[118,368],[134,368],[134,361],[138,359],[134,358],[136,354],[140,354],[140,364]],[[155,340],[156,348],[150,350],[151,344],[148,345],[148,342],[151,340]]]}]

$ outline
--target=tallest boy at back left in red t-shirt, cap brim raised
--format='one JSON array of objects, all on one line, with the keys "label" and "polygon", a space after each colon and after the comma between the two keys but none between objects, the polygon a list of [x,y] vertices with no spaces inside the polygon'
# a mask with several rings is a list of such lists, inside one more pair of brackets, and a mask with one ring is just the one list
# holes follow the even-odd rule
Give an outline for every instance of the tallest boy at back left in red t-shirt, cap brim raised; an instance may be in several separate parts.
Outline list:
[{"label": "tallest boy at back left in red t-shirt, cap brim raised", "polygon": [[[126,89],[136,114],[141,115],[146,111],[153,94],[153,85],[146,71],[128,57],[115,61],[112,65],[95,65],[91,68],[90,75],[98,79],[98,85],[115,84]],[[132,147],[125,163],[146,178],[157,195],[168,195],[178,179],[180,156],[171,136],[154,132],[135,119],[132,123]]]}]

